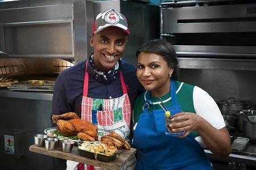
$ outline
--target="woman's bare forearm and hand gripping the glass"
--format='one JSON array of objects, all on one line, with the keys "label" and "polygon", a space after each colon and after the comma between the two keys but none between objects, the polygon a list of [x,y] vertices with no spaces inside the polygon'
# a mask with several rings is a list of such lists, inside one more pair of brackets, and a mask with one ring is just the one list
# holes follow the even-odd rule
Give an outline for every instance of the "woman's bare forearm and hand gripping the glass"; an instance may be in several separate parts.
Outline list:
[{"label": "woman's bare forearm and hand gripping the glass", "polygon": [[184,138],[196,130],[205,145],[213,154],[228,156],[231,152],[230,135],[226,127],[216,129],[204,118],[195,113],[182,112],[177,113],[171,119],[174,123],[170,124],[170,128],[174,132],[185,131],[179,138]]}]

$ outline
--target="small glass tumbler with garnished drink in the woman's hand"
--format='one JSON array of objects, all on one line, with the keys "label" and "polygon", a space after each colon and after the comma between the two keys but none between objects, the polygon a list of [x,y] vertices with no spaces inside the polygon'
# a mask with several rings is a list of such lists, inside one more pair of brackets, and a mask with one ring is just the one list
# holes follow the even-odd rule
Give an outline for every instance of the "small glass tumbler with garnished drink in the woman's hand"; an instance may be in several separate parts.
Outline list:
[{"label": "small glass tumbler with garnished drink in the woman's hand", "polygon": [[171,111],[166,111],[164,113],[164,121],[165,121],[165,125],[166,125],[166,135],[178,137],[185,133],[185,131],[174,132],[174,131],[172,131],[172,129],[169,126],[170,124],[174,123],[171,120],[172,116],[174,116],[175,114],[180,113],[180,112],[182,112],[182,111],[181,110],[171,110]]}]

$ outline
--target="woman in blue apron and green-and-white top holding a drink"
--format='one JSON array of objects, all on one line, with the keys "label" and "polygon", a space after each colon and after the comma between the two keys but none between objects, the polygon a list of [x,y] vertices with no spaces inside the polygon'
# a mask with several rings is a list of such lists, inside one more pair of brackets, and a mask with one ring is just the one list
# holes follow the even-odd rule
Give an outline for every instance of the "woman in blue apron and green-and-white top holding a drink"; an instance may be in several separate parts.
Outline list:
[{"label": "woman in blue apron and green-and-white top holding a drink", "polygon": [[[215,101],[197,86],[177,81],[177,56],[170,43],[151,40],[137,51],[137,78],[146,89],[135,101],[133,145],[136,169],[212,169],[204,146],[229,155],[230,135]],[[166,135],[164,113],[172,116]]]}]

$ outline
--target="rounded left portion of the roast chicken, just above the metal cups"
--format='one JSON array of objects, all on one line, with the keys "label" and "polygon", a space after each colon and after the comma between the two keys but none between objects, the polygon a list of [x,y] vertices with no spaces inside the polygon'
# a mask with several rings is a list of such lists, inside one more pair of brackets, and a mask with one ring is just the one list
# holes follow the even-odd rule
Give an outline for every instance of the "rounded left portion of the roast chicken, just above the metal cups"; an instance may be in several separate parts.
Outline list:
[{"label": "rounded left portion of the roast chicken, just above the metal cups", "polygon": [[76,136],[78,133],[78,131],[75,129],[75,127],[69,121],[58,120],[57,126],[58,126],[58,129],[60,130],[61,134],[64,137]]}]

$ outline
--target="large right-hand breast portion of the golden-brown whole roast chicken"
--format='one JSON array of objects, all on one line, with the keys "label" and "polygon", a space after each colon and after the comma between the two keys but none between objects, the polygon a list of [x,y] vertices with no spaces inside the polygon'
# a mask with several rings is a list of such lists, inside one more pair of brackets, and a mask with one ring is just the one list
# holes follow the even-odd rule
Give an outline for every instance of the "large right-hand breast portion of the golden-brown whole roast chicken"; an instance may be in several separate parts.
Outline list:
[{"label": "large right-hand breast portion of the golden-brown whole roast chicken", "polygon": [[90,137],[94,139],[98,139],[98,126],[92,124],[92,122],[81,120],[81,119],[72,119],[69,122],[73,125],[73,127],[82,133],[88,134]]}]

